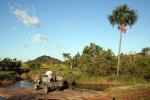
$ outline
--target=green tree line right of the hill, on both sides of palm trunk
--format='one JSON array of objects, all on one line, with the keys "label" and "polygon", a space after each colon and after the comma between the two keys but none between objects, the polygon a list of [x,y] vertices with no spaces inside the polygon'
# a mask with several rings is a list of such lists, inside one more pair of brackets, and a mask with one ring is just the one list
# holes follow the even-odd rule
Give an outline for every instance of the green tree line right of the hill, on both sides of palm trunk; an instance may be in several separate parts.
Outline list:
[{"label": "green tree line right of the hill, on both sides of palm trunk", "polygon": [[[84,47],[82,54],[63,53],[65,64],[71,70],[78,69],[89,76],[116,75],[117,56],[111,49],[104,49],[95,43]],[[139,53],[120,55],[120,75],[141,77],[150,81],[150,48],[146,47]]]}]

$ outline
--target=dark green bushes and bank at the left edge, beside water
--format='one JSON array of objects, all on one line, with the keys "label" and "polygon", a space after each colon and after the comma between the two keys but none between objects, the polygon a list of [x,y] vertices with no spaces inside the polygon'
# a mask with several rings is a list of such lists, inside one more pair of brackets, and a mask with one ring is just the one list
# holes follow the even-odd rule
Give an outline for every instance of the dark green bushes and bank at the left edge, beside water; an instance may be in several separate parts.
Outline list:
[{"label": "dark green bushes and bank at the left edge, beside water", "polygon": [[0,83],[12,83],[20,79],[21,61],[5,58],[0,60]]}]

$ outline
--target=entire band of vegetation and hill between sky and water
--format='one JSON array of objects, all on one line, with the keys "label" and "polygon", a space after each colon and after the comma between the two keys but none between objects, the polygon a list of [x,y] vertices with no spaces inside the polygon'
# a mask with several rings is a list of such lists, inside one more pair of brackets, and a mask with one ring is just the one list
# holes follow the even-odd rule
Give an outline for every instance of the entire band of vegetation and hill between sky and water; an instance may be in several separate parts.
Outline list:
[{"label": "entire band of vegetation and hill between sky and water", "polygon": [[62,62],[49,56],[21,63],[16,59],[0,60],[0,80],[27,79],[52,70],[69,82],[78,83],[148,83],[150,82],[150,48],[138,53],[121,53],[120,75],[116,77],[117,56],[111,49],[95,43],[85,46],[82,53],[63,53]]}]

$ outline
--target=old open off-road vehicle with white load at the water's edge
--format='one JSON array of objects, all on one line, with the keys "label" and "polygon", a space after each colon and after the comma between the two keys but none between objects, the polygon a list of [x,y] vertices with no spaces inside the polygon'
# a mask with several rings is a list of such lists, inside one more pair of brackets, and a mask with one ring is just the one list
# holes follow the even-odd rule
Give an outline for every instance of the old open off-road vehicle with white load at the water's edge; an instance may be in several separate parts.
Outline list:
[{"label": "old open off-road vehicle with white load at the water's edge", "polygon": [[36,90],[41,88],[44,89],[45,93],[53,90],[62,90],[63,89],[63,77],[57,77],[53,74],[52,71],[47,71],[45,74],[40,75],[37,80],[34,81],[33,87]]}]

